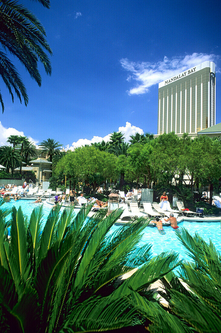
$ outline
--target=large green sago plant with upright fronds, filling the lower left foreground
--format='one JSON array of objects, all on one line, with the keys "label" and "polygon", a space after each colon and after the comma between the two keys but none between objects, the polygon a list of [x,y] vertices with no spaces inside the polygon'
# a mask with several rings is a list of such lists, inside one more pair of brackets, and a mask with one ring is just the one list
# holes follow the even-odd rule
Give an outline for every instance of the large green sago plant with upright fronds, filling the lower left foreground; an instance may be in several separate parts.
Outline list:
[{"label": "large green sago plant with upright fronds, filling the lower left foreground", "polygon": [[151,246],[137,246],[146,221],[110,233],[121,210],[106,217],[101,209],[85,223],[91,205],[77,215],[71,208],[60,215],[59,209],[51,210],[43,226],[42,206],[29,221],[13,206],[10,240],[0,214],[1,331],[101,332],[129,326],[139,331],[145,317],[136,309],[142,303],[149,304],[145,326],[154,325],[155,314],[169,317],[150,286],[179,265],[178,255],[150,259]]}]

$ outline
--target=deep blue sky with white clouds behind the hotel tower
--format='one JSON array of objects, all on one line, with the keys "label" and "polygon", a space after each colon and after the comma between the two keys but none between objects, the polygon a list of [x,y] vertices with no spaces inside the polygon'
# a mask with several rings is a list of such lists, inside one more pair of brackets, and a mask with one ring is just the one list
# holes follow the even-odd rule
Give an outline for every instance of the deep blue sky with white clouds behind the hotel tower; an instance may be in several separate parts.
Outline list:
[{"label": "deep blue sky with white clouds behind the hotel tower", "polygon": [[[126,138],[157,133],[158,82],[205,60],[216,64],[216,123],[221,122],[220,2],[21,1],[40,19],[53,50],[52,76],[42,87],[17,64],[26,108],[1,82],[5,112],[0,144],[23,132],[35,143],[64,147],[99,141],[120,128]],[[79,141],[79,139],[84,139]],[[87,139],[87,140],[85,140]],[[77,143],[74,144],[73,143]]]}]

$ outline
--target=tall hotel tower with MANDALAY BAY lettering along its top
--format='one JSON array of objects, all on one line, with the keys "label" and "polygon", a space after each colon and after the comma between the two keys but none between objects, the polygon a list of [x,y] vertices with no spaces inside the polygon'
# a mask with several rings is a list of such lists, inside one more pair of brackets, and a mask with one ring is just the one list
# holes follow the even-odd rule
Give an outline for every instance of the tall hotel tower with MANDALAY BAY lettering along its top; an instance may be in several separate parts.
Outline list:
[{"label": "tall hotel tower with MANDALAY BAY lettering along its top", "polygon": [[216,124],[216,77],[212,61],[159,83],[157,133],[196,134]]}]

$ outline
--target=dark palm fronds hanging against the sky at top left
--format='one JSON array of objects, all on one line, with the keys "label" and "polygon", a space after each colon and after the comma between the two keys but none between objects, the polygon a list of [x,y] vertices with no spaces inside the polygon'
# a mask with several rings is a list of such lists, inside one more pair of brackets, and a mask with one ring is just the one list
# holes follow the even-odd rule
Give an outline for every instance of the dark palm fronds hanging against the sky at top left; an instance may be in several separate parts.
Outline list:
[{"label": "dark palm fronds hanging against the sky at top left", "polygon": [[[49,0],[36,0],[44,7],[49,8]],[[14,94],[20,102],[24,99],[28,104],[26,88],[8,54],[17,58],[25,67],[39,87],[41,75],[38,71],[38,62],[41,62],[47,74],[51,75],[51,64],[44,49],[52,55],[52,50],[46,39],[46,32],[40,21],[27,8],[12,0],[2,0],[0,3],[0,43],[4,52],[0,51],[0,76],[5,83],[14,102]],[[2,112],[4,103],[0,94]]]}]

